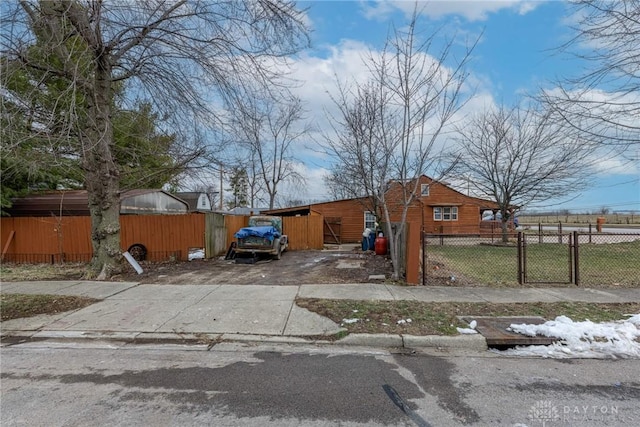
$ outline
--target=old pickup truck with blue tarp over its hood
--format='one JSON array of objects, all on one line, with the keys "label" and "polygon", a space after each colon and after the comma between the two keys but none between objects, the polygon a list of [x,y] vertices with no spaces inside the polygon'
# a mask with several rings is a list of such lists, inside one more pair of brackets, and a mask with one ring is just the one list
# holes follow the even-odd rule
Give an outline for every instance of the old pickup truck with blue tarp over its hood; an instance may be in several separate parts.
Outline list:
[{"label": "old pickup truck with blue tarp over its hood", "polygon": [[282,234],[282,218],[279,216],[250,217],[249,226],[238,230],[235,238],[238,240],[235,252],[240,256],[267,254],[280,259],[289,246],[287,235]]}]

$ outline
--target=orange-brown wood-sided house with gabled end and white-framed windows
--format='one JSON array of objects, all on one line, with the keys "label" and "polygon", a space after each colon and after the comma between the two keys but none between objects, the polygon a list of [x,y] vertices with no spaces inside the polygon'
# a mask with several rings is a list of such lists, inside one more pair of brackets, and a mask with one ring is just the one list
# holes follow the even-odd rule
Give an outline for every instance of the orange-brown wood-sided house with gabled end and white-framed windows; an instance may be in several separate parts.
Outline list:
[{"label": "orange-brown wood-sided house with gabled end and white-framed windows", "polygon": [[[493,201],[467,196],[425,175],[419,179],[420,195],[407,212],[407,222],[414,224],[413,229],[417,226],[417,229],[424,228],[427,233],[479,234],[482,212],[498,209]],[[392,183],[385,195],[391,222],[400,221],[402,215],[399,191],[399,184]],[[324,217],[326,244],[355,243],[362,240],[365,228],[373,229],[378,221],[371,206],[368,198],[357,198],[273,209],[264,213],[281,216],[309,215],[312,212],[321,214]]]}]

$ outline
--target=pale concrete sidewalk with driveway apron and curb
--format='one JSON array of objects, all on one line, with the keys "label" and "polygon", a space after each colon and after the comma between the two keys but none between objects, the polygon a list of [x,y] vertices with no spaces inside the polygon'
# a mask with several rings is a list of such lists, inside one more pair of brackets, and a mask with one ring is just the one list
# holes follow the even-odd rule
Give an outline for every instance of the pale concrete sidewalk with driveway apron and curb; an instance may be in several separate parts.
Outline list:
[{"label": "pale concrete sidewalk with driveway apron and curb", "polygon": [[[640,302],[640,289],[403,287],[346,285],[138,285],[132,282],[48,281],[0,284],[3,293],[86,296],[102,301],[57,315],[1,323],[2,337],[122,341],[270,341],[333,335],[340,325],[295,305],[295,299],[424,302]],[[317,341],[316,341],[317,342]],[[486,348],[480,335],[410,337],[353,334],[342,344],[386,347]]]}]

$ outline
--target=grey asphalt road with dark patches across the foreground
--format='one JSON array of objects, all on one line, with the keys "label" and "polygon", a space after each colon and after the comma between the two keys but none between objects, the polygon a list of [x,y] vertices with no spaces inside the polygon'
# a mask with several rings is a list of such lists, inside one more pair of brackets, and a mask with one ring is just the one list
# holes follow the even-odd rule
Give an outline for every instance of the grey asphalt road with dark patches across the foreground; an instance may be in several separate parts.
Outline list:
[{"label": "grey asphalt road with dark patches across the foreground", "polygon": [[1,350],[2,426],[630,426],[637,360],[336,347]]}]

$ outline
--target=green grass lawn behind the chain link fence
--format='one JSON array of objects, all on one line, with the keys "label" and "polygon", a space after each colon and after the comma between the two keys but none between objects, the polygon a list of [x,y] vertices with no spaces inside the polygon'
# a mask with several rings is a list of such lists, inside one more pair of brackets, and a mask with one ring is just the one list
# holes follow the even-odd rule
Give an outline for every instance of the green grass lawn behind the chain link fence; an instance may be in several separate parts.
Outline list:
[{"label": "green grass lawn behind the chain link fence", "polygon": [[[476,284],[517,285],[517,248],[514,246],[427,247],[427,259],[446,266]],[[535,243],[526,247],[529,283],[569,282],[568,244]],[[640,241],[579,246],[580,285],[640,286]],[[432,274],[429,271],[428,274]]]}]

